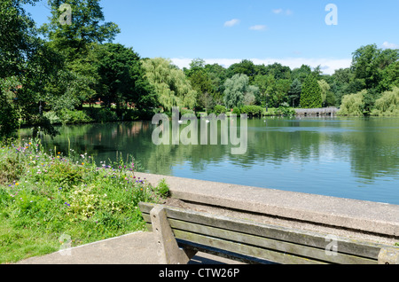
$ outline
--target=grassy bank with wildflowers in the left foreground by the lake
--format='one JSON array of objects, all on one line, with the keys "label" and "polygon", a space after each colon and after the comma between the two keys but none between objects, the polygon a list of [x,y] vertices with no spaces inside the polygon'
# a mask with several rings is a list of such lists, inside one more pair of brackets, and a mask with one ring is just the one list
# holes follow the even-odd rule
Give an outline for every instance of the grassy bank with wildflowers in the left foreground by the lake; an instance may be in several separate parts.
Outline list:
[{"label": "grassy bank with wildflowers in the left foreground by the lake", "polygon": [[32,140],[0,147],[0,263],[58,251],[65,236],[75,247],[145,230],[137,203],[159,202],[168,185],[138,179],[134,166],[66,158]]}]

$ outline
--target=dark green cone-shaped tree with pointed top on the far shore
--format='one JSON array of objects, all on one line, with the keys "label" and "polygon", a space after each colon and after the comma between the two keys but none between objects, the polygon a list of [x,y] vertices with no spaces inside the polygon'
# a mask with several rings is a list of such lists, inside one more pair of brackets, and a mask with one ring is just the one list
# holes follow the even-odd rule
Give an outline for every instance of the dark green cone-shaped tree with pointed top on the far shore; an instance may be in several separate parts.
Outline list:
[{"label": "dark green cone-shaped tree with pointed top on the far shore", "polygon": [[313,74],[309,74],[302,85],[301,107],[318,108],[322,106],[321,89]]}]

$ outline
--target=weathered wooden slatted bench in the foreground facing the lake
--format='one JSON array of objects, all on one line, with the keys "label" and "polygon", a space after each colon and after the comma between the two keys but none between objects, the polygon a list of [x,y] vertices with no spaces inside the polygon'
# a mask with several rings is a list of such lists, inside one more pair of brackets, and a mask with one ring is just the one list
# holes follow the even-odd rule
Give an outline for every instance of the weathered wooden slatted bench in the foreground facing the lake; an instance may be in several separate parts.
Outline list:
[{"label": "weathered wooden slatted bench in the foreground facing the lake", "polygon": [[190,262],[199,251],[246,263],[399,263],[395,246],[144,202],[139,208],[165,264]]}]

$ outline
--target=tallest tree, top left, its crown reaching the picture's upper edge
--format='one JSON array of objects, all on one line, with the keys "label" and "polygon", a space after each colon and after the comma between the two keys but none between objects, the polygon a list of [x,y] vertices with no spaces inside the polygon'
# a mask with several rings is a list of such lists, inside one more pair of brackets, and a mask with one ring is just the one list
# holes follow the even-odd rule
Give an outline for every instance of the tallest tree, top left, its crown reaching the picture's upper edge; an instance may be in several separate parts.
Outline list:
[{"label": "tallest tree, top left, its crown reaching the picture's upper edge", "polygon": [[[66,78],[64,93],[74,107],[81,108],[82,103],[95,98],[98,90],[98,46],[112,42],[120,32],[113,22],[104,22],[105,17],[99,0],[49,0],[51,19],[43,24],[41,31],[49,45],[65,59]],[[70,24],[61,22],[61,4],[71,7]],[[68,79],[70,78],[70,79]],[[62,83],[62,82],[61,82]]]}]

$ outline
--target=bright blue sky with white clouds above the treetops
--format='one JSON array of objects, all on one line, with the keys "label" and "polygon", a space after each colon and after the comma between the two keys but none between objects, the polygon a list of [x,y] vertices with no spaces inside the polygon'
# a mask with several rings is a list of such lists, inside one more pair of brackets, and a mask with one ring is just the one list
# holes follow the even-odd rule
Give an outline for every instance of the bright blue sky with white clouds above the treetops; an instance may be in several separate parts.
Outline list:
[{"label": "bright blue sky with white clouds above the treetops", "polygon": [[[28,8],[41,25],[43,0]],[[376,43],[399,48],[399,0],[102,0],[106,21],[121,28],[114,43],[142,58],[172,59],[188,67],[205,59],[229,67],[242,59],[289,67],[320,65],[325,74],[349,67],[352,52]],[[327,4],[337,25],[327,25]]]}]

